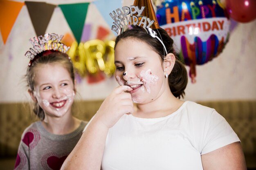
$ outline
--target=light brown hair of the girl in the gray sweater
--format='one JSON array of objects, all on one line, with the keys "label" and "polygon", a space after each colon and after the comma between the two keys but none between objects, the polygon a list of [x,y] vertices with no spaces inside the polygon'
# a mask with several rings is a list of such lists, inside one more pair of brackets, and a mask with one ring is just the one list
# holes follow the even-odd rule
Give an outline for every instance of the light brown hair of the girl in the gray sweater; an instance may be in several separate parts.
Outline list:
[{"label": "light brown hair of the girl in the gray sweater", "polygon": [[[70,77],[74,84],[74,68],[67,54],[52,50],[51,53],[49,53],[49,51],[43,51],[36,57],[38,58],[27,68],[26,79],[30,91],[33,92],[35,90],[36,68],[43,64],[62,64],[70,73]],[[40,118],[40,120],[45,119],[45,113],[37,102],[34,104],[33,112]]]}]

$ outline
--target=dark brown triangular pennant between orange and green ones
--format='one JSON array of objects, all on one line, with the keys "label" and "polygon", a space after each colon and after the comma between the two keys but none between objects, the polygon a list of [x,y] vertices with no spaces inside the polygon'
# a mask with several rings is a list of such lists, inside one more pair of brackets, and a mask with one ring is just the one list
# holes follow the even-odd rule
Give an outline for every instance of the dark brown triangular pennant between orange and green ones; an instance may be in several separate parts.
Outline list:
[{"label": "dark brown triangular pennant between orange and green ones", "polygon": [[45,34],[45,30],[52,18],[52,13],[56,5],[30,1],[25,1],[25,4],[29,11],[29,16],[36,31],[36,35]]}]

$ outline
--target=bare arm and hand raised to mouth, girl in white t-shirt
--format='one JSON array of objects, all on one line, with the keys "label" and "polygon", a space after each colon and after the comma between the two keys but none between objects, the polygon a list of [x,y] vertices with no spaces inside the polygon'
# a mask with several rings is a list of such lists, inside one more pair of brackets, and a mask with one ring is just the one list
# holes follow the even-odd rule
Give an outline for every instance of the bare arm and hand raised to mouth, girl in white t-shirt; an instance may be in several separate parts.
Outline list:
[{"label": "bare arm and hand raised to mouth, girl in white t-shirt", "polygon": [[130,90],[129,86],[119,86],[104,100],[61,170],[100,170],[108,129],[122,115],[133,112],[131,95],[124,93]]}]

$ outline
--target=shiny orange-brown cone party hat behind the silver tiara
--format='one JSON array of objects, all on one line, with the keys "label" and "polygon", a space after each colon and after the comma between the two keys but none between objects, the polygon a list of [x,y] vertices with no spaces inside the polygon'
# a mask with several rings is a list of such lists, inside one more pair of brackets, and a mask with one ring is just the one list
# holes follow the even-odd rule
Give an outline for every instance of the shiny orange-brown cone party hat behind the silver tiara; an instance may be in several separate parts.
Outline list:
[{"label": "shiny orange-brown cone party hat behind the silver tiara", "polygon": [[151,3],[151,0],[135,0],[134,6],[138,6],[139,8],[145,7],[144,11],[141,13],[142,16],[146,16],[147,18],[150,18],[151,20],[155,20],[152,26],[150,26],[151,29],[159,29],[159,24],[157,22],[157,17],[155,15],[155,10],[153,8],[153,5]]}]

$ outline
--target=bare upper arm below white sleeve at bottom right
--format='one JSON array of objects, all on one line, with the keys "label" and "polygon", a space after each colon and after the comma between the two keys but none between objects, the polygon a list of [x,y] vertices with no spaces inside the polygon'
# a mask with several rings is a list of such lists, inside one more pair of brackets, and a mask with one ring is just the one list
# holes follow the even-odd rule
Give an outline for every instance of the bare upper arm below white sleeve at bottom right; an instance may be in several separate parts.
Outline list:
[{"label": "bare upper arm below white sleeve at bottom right", "polygon": [[201,157],[204,170],[246,170],[240,142],[234,142]]}]

